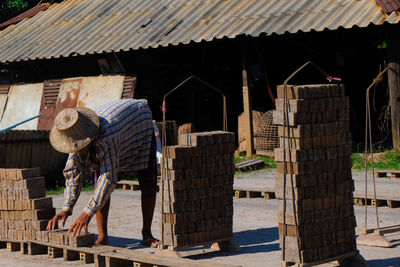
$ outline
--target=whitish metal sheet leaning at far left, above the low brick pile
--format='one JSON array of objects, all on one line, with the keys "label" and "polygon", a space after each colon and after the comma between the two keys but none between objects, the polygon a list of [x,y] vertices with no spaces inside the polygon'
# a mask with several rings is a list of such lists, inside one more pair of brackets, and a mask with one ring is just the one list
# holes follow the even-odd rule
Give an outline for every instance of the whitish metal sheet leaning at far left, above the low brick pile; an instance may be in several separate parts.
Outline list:
[{"label": "whitish metal sheet leaning at far left, above the low brick pile", "polygon": [[[0,129],[31,118],[39,114],[43,84],[12,85],[8,94],[7,105],[0,122]],[[31,120],[17,126],[19,130],[36,130],[38,120]]]}]

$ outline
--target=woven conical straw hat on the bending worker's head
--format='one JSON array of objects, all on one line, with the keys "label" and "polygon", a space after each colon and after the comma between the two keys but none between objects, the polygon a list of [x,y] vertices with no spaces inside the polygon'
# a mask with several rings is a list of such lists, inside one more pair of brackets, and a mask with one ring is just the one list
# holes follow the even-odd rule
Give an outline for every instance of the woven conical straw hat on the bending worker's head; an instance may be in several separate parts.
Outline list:
[{"label": "woven conical straw hat on the bending worker's head", "polygon": [[62,153],[78,152],[95,139],[99,116],[89,108],[66,108],[54,119],[50,144]]}]

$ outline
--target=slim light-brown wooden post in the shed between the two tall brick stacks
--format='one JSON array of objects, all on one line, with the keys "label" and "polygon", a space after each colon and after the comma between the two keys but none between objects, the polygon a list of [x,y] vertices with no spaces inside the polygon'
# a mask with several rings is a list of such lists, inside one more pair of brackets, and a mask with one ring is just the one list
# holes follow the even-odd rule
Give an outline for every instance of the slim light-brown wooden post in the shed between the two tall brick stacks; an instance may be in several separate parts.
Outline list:
[{"label": "slim light-brown wooden post in the shed between the two tall brick stacks", "polygon": [[253,113],[251,104],[251,90],[247,81],[247,42],[244,40],[242,46],[242,78],[243,78],[243,109],[244,125],[246,128],[246,156],[253,156]]}]

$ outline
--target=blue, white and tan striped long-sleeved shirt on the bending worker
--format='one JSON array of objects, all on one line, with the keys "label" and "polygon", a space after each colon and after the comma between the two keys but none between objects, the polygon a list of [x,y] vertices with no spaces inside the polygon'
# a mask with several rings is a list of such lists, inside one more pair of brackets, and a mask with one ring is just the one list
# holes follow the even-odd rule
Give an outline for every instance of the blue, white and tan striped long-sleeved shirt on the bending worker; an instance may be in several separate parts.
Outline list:
[{"label": "blue, white and tan striped long-sleeved shirt on the bending worker", "polygon": [[[93,141],[98,162],[97,186],[84,212],[93,216],[101,209],[115,188],[119,172],[147,169],[152,114],[147,100],[122,99],[96,110],[100,119],[99,136]],[[79,152],[69,154],[64,169],[65,202],[63,210],[72,209],[81,192],[90,166]]]}]

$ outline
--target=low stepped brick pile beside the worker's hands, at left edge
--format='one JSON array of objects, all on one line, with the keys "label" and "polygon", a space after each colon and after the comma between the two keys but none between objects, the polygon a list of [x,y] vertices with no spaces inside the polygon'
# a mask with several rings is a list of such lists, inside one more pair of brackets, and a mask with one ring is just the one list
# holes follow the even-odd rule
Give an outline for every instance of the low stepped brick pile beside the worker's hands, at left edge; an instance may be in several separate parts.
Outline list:
[{"label": "low stepped brick pile beside the worker's hands, at left edge", "polygon": [[40,168],[0,169],[0,239],[35,240],[55,215]]}]

